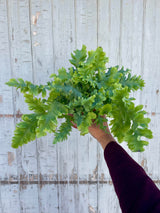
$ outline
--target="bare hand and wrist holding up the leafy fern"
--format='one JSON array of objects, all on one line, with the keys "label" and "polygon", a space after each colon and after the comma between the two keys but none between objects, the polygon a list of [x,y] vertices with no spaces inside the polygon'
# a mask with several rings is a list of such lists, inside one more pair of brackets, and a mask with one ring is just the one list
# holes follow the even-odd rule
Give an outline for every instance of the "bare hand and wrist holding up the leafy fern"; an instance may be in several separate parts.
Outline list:
[{"label": "bare hand and wrist holding up the leafy fern", "polygon": [[[72,114],[69,114],[69,115],[73,117]],[[103,117],[105,118],[105,115]],[[73,124],[74,128],[77,128],[77,125],[73,121],[71,121],[71,123]],[[102,148],[105,149],[105,147],[108,145],[108,143],[110,143],[111,141],[116,142],[116,140],[114,139],[114,137],[112,136],[112,134],[109,130],[108,123],[104,122],[103,125],[106,126],[108,133],[106,133],[104,130],[102,130],[99,125],[95,124],[94,120],[93,120],[92,125],[90,127],[88,127],[88,130],[89,130],[89,133],[95,139],[97,139],[99,141]]]}]

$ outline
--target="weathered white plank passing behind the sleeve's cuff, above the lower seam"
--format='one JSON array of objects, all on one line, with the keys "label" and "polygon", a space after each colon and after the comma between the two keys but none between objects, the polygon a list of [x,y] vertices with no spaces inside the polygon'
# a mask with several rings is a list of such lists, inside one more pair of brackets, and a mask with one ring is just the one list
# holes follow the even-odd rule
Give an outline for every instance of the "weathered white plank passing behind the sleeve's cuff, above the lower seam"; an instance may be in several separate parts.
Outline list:
[{"label": "weathered white plank passing behind the sleeve's cuff, above the lower seam", "polygon": [[[119,58],[119,34],[120,34],[120,2],[99,1],[98,2],[98,46],[103,47],[109,64],[115,66]],[[110,179],[109,170],[104,160],[102,147],[98,147],[98,178],[100,181]],[[99,192],[98,192],[99,193]],[[98,204],[99,205],[99,204]]]}]

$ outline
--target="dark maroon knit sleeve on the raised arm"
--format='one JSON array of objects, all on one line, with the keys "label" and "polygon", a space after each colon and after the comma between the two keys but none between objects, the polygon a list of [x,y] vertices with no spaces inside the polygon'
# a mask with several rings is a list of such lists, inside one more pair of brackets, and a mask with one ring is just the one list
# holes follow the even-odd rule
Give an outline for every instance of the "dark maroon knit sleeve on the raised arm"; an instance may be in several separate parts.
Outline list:
[{"label": "dark maroon knit sleeve on the raised arm", "polygon": [[123,213],[160,213],[160,190],[117,142],[106,146],[104,158]]}]

